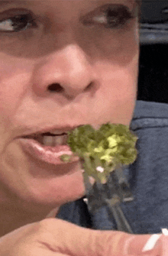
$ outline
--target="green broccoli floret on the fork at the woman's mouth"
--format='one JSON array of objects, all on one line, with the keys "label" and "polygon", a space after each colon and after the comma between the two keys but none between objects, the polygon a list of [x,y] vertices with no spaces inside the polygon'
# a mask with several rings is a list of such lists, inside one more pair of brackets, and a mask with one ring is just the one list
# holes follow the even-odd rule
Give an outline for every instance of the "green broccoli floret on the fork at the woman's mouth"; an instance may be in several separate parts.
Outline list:
[{"label": "green broccoli floret on the fork at the woman's mouth", "polygon": [[[82,167],[88,176],[105,183],[116,167],[134,163],[137,158],[135,144],[137,136],[128,125],[102,125],[98,130],[91,125],[82,125],[68,132],[67,144],[82,160]],[[63,161],[70,157],[62,155]]]}]

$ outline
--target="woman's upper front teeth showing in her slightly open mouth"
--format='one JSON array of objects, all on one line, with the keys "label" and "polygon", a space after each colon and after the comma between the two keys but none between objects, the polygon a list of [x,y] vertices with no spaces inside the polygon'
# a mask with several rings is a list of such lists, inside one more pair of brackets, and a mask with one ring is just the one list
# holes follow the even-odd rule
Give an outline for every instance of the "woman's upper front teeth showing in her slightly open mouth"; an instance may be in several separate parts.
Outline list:
[{"label": "woman's upper front teeth showing in her slightly open mouth", "polygon": [[41,144],[45,146],[54,147],[56,145],[65,145],[67,141],[68,135],[62,136],[40,136],[40,140],[38,140]]}]

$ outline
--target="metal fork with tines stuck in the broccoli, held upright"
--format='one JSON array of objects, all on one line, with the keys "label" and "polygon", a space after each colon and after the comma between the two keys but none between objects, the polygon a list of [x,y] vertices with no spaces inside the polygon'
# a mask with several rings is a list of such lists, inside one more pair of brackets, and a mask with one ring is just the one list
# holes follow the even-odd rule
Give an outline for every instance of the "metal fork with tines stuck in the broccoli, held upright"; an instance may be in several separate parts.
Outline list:
[{"label": "metal fork with tines stuck in the broccoli, held upright", "polygon": [[83,173],[83,177],[89,212],[94,214],[101,206],[106,205],[115,219],[117,230],[133,234],[120,207],[121,202],[131,202],[134,199],[121,167],[111,172],[105,184],[95,182],[92,185],[86,172]]}]

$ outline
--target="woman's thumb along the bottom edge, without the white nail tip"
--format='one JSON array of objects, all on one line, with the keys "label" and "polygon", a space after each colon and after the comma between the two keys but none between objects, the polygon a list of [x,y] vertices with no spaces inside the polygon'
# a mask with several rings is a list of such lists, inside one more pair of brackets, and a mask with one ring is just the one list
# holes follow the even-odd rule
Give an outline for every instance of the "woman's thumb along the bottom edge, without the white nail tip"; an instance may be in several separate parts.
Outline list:
[{"label": "woman's thumb along the bottom edge, without the white nail tip", "polygon": [[[132,235],[120,231],[92,230],[60,219],[46,219],[46,221],[50,222],[51,247],[58,253],[72,256],[140,255],[151,236]],[[153,255],[161,256],[160,246],[159,243]],[[148,251],[143,255],[146,254]]]}]

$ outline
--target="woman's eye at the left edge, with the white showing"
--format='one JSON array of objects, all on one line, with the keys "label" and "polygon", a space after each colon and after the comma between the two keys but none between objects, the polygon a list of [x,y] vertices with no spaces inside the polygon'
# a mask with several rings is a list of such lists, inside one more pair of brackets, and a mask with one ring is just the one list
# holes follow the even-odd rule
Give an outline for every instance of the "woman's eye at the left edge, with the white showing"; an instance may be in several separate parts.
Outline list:
[{"label": "woman's eye at the left edge, with the white showing", "polygon": [[34,19],[30,14],[17,15],[14,17],[6,18],[0,21],[0,31],[2,32],[18,32],[24,31],[27,28],[36,28],[37,25],[34,23]]}]

